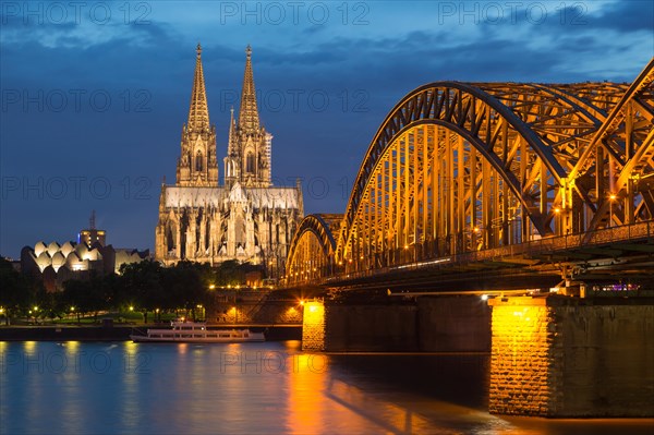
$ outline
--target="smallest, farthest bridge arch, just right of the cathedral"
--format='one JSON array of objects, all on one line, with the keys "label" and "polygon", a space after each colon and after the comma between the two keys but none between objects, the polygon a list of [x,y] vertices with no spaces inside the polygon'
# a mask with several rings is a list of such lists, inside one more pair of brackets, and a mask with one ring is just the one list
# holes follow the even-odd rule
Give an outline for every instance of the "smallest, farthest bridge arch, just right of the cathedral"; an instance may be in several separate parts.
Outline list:
[{"label": "smallest, farthest bridge arch, just right of the cathedral", "polygon": [[318,280],[334,273],[336,240],[342,215],[308,215],[302,219],[291,240],[287,283]]}]

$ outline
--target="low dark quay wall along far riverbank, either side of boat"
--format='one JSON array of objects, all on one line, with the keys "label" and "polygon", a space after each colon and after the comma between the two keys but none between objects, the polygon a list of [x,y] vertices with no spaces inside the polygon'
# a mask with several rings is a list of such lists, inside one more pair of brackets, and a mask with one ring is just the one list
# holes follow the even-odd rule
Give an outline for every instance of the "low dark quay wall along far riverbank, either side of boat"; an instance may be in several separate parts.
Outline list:
[{"label": "low dark quay wall along far riverbank, either side of boat", "polygon": [[[0,341],[125,341],[131,334],[144,334],[147,328],[161,325],[133,326],[3,326],[0,327]],[[300,340],[300,325],[221,325],[217,329],[250,328],[264,331],[268,341]]]}]

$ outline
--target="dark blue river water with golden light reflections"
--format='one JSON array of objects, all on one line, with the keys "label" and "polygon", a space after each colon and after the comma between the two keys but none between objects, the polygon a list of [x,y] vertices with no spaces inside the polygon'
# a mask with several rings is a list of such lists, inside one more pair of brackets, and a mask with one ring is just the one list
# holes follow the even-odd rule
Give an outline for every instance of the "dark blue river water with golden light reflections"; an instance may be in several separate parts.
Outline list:
[{"label": "dark blue river water with golden light reflections", "polygon": [[487,354],[0,342],[1,434],[652,434],[654,420],[486,412]]}]

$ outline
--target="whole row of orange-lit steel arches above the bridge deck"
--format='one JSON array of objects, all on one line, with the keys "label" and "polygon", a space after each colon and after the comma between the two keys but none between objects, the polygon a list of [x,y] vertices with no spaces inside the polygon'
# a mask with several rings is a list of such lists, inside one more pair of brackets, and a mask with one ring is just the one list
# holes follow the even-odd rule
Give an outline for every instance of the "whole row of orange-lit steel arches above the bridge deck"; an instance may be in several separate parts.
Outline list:
[{"label": "whole row of orange-lit steel arches above the bridge deck", "polygon": [[[652,221],[653,82],[654,59],[631,85],[436,82],[412,90],[375,134],[334,235],[305,218],[287,277],[565,234],[581,234],[581,244],[601,229]],[[304,234],[314,227],[311,245]],[[325,273],[312,276],[306,262]]]}]

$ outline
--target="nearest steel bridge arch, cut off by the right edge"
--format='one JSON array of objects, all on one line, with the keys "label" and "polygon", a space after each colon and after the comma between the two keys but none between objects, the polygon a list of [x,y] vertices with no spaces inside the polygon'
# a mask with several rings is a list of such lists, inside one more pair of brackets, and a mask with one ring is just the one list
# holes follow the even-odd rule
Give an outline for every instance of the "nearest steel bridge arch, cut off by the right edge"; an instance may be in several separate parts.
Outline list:
[{"label": "nearest steel bridge arch, cut off by the right edge", "polygon": [[654,58],[582,152],[568,177],[595,184],[586,231],[654,217]]}]

